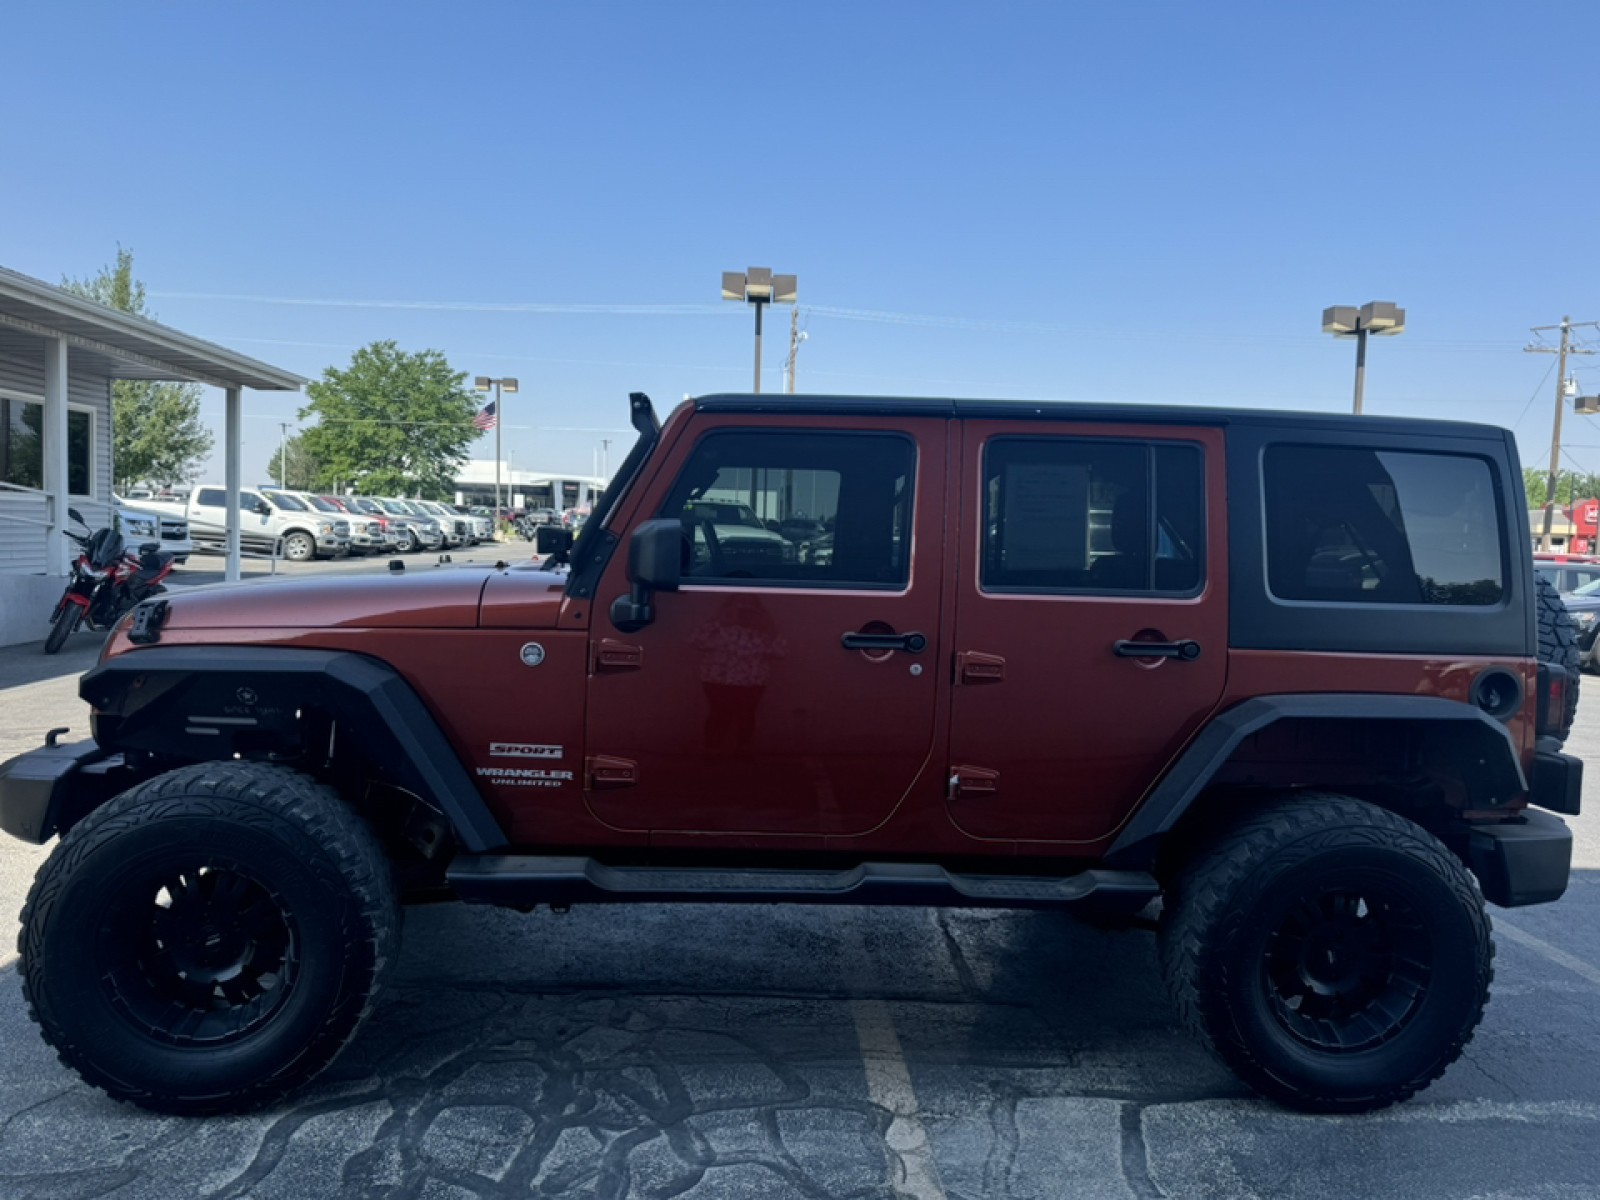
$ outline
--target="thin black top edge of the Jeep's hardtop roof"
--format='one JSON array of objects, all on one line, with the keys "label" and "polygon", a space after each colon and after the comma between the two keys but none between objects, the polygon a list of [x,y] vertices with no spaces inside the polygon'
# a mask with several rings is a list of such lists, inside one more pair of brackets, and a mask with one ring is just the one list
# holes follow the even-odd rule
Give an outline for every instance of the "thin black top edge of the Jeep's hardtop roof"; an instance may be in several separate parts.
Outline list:
[{"label": "thin black top edge of the Jeep's hardtop roof", "polygon": [[717,394],[693,400],[699,413],[806,413],[821,416],[946,416],[1005,421],[1082,421],[1096,424],[1269,426],[1306,432],[1373,430],[1387,435],[1464,437],[1501,442],[1499,426],[1416,416],[1355,416],[1280,408],[1210,408],[1205,405],[1099,405],[1077,400],[958,400],[901,395],[754,395]]}]

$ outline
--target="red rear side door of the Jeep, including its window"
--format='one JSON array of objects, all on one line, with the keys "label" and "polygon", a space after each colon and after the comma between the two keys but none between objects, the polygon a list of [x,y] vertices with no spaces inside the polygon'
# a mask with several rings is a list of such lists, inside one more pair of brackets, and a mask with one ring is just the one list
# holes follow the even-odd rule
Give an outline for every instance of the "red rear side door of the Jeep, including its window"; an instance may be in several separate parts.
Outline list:
[{"label": "red rear side door of the Jeep, including its window", "polygon": [[1094,853],[1227,677],[1222,434],[968,419],[949,816]]}]

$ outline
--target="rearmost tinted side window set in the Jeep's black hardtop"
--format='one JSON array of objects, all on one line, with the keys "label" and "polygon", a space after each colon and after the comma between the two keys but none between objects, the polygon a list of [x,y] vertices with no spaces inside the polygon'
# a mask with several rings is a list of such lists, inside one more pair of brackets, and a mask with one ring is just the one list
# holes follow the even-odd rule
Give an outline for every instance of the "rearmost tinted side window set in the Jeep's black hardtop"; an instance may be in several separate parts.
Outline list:
[{"label": "rearmost tinted side window set in the Jeep's black hardtop", "polygon": [[1498,605],[1490,464],[1466,454],[1269,446],[1267,582],[1280,600]]}]

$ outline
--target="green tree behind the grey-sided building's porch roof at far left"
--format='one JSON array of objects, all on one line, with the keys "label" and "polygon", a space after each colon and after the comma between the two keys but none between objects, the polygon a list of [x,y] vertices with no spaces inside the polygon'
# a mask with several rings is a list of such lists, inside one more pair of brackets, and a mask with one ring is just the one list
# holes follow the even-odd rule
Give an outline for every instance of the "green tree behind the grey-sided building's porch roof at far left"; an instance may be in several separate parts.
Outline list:
[{"label": "green tree behind the grey-sided building's porch roof at far left", "polygon": [[[134,317],[154,318],[144,285],[133,277],[133,251],[117,246],[117,264],[94,278],[61,282],[67,291]],[[110,389],[112,478],[126,483],[186,483],[211,453],[211,430],[200,419],[198,384],[118,379]]]}]

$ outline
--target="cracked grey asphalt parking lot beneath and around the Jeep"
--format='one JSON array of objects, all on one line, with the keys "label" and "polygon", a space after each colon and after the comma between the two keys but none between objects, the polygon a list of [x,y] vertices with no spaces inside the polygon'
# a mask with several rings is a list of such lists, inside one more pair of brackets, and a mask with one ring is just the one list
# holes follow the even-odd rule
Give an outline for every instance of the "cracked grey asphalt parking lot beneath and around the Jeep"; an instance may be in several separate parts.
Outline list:
[{"label": "cracked grey asphalt parking lot beneath and around the Jeep", "polygon": [[[386,568],[280,566],[317,570]],[[0,650],[0,757],[83,731],[96,643]],[[1570,746],[1600,763],[1589,688]],[[1568,896],[1494,910],[1466,1056],[1354,1118],[1246,1094],[1176,1029],[1147,933],[712,906],[413,909],[374,1019],[315,1086],[155,1117],[38,1040],[10,933],[45,851],[0,838],[0,1197],[1600,1197],[1597,787]]]}]

